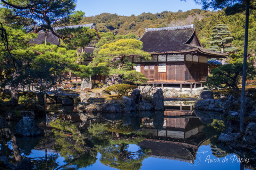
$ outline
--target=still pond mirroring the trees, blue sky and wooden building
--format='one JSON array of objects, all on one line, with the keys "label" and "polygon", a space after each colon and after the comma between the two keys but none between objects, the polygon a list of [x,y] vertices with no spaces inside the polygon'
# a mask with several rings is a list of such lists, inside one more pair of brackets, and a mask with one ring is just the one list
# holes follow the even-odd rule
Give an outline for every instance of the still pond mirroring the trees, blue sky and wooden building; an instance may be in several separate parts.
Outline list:
[{"label": "still pond mirroring the trees, blue sky and wooden building", "polygon": [[[191,103],[165,104],[163,112],[129,114],[49,105],[46,134],[1,138],[1,154],[13,164],[28,157],[33,169],[254,168],[219,146],[223,121],[197,117]],[[43,117],[36,122],[44,128]],[[8,126],[15,133],[15,123]]]}]

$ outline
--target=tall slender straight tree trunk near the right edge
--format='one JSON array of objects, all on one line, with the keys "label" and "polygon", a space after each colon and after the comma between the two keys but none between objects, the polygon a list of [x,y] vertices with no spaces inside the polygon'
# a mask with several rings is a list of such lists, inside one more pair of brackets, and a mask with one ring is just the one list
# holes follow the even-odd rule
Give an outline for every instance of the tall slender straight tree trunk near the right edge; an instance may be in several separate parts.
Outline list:
[{"label": "tall slender straight tree trunk near the right edge", "polygon": [[244,32],[244,64],[243,64],[243,79],[242,79],[242,94],[241,94],[241,111],[240,111],[240,132],[244,130],[244,100],[245,100],[245,80],[247,68],[247,47],[248,47],[248,25],[249,25],[249,7],[250,1],[246,1],[246,14],[245,14],[245,32]]}]

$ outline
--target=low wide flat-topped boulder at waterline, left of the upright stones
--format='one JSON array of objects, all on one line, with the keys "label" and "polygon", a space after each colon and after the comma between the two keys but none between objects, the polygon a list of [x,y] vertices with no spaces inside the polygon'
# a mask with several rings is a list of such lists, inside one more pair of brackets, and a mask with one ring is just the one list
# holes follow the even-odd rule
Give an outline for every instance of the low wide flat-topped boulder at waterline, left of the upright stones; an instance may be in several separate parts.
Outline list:
[{"label": "low wide flat-topped boulder at waterline, left of the upright stones", "polygon": [[96,104],[96,109],[98,112],[105,112],[105,113],[118,113],[121,112],[122,107],[120,104],[113,104],[113,103],[100,103]]}]

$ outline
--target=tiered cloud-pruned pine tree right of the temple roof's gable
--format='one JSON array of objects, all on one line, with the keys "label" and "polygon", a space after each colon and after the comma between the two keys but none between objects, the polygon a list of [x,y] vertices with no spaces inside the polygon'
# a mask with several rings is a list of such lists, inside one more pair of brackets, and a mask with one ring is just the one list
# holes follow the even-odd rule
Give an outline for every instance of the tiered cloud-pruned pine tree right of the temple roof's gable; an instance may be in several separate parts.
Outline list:
[{"label": "tiered cloud-pruned pine tree right of the temple roof's gable", "polygon": [[221,51],[221,53],[231,53],[236,50],[235,47],[231,46],[231,42],[234,38],[230,36],[231,32],[228,31],[227,25],[218,24],[214,26],[211,35],[212,41],[210,41],[210,44],[212,46],[209,47],[210,50]]}]

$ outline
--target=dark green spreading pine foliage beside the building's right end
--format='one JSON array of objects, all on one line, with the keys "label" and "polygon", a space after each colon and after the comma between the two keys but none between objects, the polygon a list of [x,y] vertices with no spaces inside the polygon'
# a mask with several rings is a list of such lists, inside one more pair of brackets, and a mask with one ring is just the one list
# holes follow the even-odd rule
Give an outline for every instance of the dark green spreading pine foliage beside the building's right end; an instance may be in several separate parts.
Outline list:
[{"label": "dark green spreading pine foliage beside the building's right end", "polygon": [[[247,64],[247,77],[255,78],[255,68]],[[206,79],[206,85],[210,88],[232,88],[238,92],[237,83],[242,76],[243,64],[226,64],[211,70]]]}]

